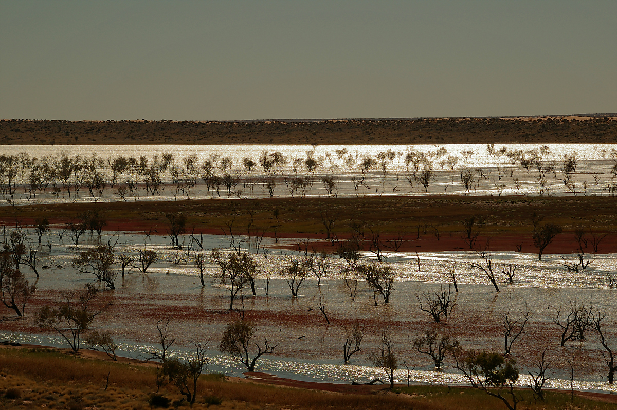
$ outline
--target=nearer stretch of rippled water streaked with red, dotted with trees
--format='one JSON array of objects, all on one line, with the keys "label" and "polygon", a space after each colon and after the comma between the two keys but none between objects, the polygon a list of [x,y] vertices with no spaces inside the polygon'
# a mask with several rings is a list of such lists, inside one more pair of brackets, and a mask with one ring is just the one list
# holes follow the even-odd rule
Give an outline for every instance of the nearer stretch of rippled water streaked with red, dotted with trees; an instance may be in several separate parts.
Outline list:
[{"label": "nearer stretch of rippled water streaked with red, dotted with trees", "polygon": [[[91,282],[93,276],[77,274],[70,267],[70,261],[78,251],[70,246],[66,237],[60,240],[58,234],[59,231],[49,234],[51,252],[47,247],[41,251],[38,293],[28,306],[26,318],[12,321],[9,311],[2,311],[0,339],[63,345],[58,335],[33,326],[34,314],[39,306],[56,300],[60,290],[79,289]],[[118,277],[117,289],[106,292],[112,295],[114,305],[95,324],[98,329],[109,330],[114,335],[120,345],[120,354],[143,358],[148,356],[147,352],[155,351],[156,322],[172,315],[170,330],[176,338],[172,355],[190,354],[189,340],[205,340],[212,335],[209,371],[241,375],[241,364],[217,351],[217,343],[226,324],[239,316],[227,313],[228,290],[216,282],[216,266],[209,263],[207,283],[202,288],[196,268],[187,262],[190,258],[183,253],[186,249],[178,251],[171,248],[167,237],[146,238],[130,232],[117,238],[112,234],[86,237],[80,250],[88,245],[107,244],[108,240],[116,239],[118,253],[136,255],[138,248],[147,248],[159,252],[161,256],[161,261],[152,265],[147,274],[133,271],[124,279]],[[30,240],[35,239],[30,236]],[[192,252],[208,255],[211,248],[225,249],[227,246],[228,242],[223,236],[204,236],[204,250]],[[247,242],[243,246],[251,252]],[[457,337],[465,348],[502,351],[500,313],[508,309],[517,312],[526,303],[534,315],[512,350],[521,367],[520,385],[528,383],[528,377],[524,375],[535,369],[537,356],[547,347],[552,378],[546,387],[569,388],[568,369],[563,358],[580,351],[584,360],[579,359],[576,365],[575,388],[614,390],[601,376],[606,372],[597,340],[589,335],[588,340],[566,343],[566,348],[562,349],[559,329],[552,321],[555,309],[567,306],[570,301],[601,306],[607,309],[607,334],[615,345],[617,289],[611,287],[609,279],[616,271],[615,254],[591,255],[590,266],[576,273],[563,268],[562,258],[571,260],[573,255],[545,255],[542,261],[537,261],[534,254],[495,253],[493,260],[501,290],[496,293],[481,271],[471,266],[471,261],[478,260],[470,252],[420,253],[420,269],[415,253],[391,253],[382,262],[392,266],[397,275],[388,305],[384,305],[379,298],[378,305],[375,305],[370,289],[362,281],[358,284],[357,298],[351,301],[349,289],[342,281],[344,261],[337,258],[331,258],[331,267],[321,286],[317,285],[315,278],[310,278],[300,289],[299,297],[292,298],[288,284],[280,275],[280,268],[289,262],[289,258],[301,258],[304,254],[271,248],[267,258],[263,254],[254,256],[263,271],[273,273],[268,297],[265,297],[265,276],[261,274],[257,281],[257,296],[253,297],[249,289],[244,289],[242,298],[236,300],[234,306],[239,308],[241,301],[244,301],[247,318],[257,326],[259,342],[267,337],[270,342],[279,344],[275,355],[263,356],[257,362],[257,371],[293,379],[336,383],[366,381],[375,377],[384,379],[385,375],[379,369],[370,366],[366,355],[377,346],[379,334],[387,328],[401,361],[396,373],[397,383],[407,382],[407,370],[402,363],[405,361],[413,369],[409,375],[413,383],[465,384],[462,376],[452,369],[452,358],[445,360],[444,371],[433,371],[428,356],[414,352],[411,342],[416,335],[436,326],[428,314],[418,310],[414,293],[421,295],[423,292],[438,291],[442,284],[447,286],[449,279],[446,274],[453,268],[458,282],[457,305],[447,321],[438,326],[442,332]],[[371,253],[366,253],[363,258],[366,262],[375,261]],[[513,283],[508,284],[499,272],[503,267],[514,264],[516,274]],[[30,281],[34,280],[30,271],[25,269],[24,272]],[[329,326],[317,308],[320,297],[326,302],[326,313],[331,319]],[[367,332],[363,350],[352,357],[350,365],[345,366],[342,364],[344,326],[354,321],[365,324]]]}]

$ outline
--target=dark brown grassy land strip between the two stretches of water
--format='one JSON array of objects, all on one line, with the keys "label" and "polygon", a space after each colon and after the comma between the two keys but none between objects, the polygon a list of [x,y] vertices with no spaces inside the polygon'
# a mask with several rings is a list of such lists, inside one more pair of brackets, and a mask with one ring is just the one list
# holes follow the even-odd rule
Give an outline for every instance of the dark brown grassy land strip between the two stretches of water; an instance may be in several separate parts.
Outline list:
[{"label": "dark brown grassy land strip between the two stretches of water", "polygon": [[[574,231],[576,226],[617,230],[615,198],[612,197],[436,196],[64,203],[0,207],[0,221],[14,224],[15,219],[19,219],[31,223],[35,218],[47,216],[51,223],[67,223],[79,211],[93,208],[106,212],[109,218],[107,229],[157,228],[159,234],[164,234],[167,226],[165,213],[178,211],[186,213],[188,226],[196,225],[198,230],[211,229],[218,234],[222,233],[220,227],[225,226],[224,222],[238,213],[234,230],[246,231],[252,208],[255,209],[254,227],[270,228],[276,224],[273,211],[278,209],[279,232],[295,236],[323,237],[320,210],[338,216],[334,231],[340,234],[351,232],[350,221],[366,221],[382,233],[408,232],[412,237],[415,237],[418,224],[421,225],[421,236],[425,236],[422,234],[424,223],[439,226],[443,233],[459,234],[464,219],[483,215],[486,219],[483,232],[487,234],[529,234],[531,237],[534,211],[545,217],[543,223],[562,224],[565,231]],[[433,237],[430,229],[426,236]]]}]

